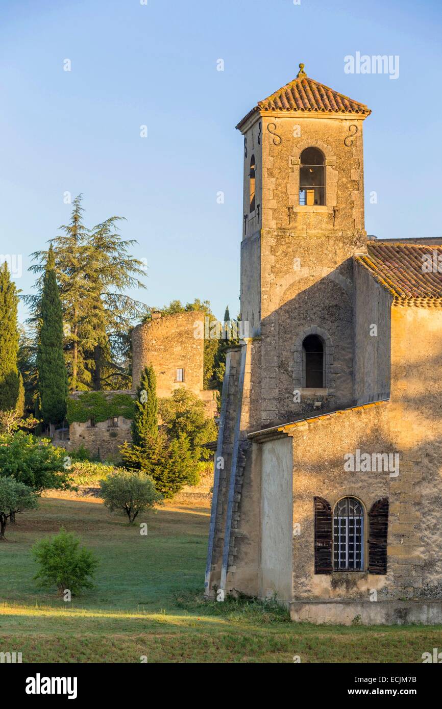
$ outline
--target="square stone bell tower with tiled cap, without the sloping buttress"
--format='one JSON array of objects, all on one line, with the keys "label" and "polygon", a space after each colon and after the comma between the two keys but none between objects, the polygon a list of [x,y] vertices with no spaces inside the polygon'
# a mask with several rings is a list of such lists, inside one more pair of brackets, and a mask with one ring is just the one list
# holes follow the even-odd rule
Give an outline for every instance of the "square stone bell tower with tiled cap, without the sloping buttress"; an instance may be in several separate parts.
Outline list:
[{"label": "square stone bell tower with tiled cap, without the sloping buttress", "polygon": [[[250,357],[259,360],[251,428],[353,400],[351,257],[365,251],[368,115],[300,64],[296,79],[237,125],[244,135],[241,316]],[[306,347],[317,355],[311,376]]]}]

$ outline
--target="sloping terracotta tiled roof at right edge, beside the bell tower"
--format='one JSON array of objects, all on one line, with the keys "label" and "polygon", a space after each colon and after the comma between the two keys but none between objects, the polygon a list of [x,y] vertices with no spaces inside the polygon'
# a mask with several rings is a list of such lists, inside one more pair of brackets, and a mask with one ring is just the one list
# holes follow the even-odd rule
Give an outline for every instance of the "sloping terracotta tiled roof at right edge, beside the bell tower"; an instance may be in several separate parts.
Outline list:
[{"label": "sloping terracotta tiled roof at right edge, beside the bell tower", "polygon": [[368,254],[357,257],[356,261],[392,294],[395,303],[441,306],[442,273],[438,273],[438,257],[442,270],[442,245],[368,242],[367,247]]}]

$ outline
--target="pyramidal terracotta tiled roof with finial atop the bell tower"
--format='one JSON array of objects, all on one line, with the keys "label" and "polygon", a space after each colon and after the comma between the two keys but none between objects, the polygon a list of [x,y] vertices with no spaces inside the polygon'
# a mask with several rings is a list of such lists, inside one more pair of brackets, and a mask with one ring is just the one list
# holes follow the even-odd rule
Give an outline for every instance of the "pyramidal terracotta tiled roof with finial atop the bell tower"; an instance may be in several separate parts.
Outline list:
[{"label": "pyramidal terracotta tiled roof with finial atop the bell tower", "polygon": [[353,101],[344,94],[330,89],[329,86],[320,84],[314,79],[309,79],[304,72],[304,65],[299,65],[301,71],[296,79],[267,96],[267,99],[258,101],[258,104],[247,113],[238,123],[241,125],[255,111],[299,111],[301,113],[355,113],[359,116],[370,116],[370,108],[359,101]]}]

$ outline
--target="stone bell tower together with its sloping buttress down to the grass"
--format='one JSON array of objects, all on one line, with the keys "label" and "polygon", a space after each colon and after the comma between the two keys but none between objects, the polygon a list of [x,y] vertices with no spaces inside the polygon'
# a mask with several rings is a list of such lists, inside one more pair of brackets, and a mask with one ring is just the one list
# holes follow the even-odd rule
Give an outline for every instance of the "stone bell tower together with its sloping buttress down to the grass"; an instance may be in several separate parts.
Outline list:
[{"label": "stone bell tower together with its sloping buttress down to the grass", "polygon": [[[248,337],[226,359],[208,595],[260,594],[258,529],[268,515],[261,450],[248,435],[270,428],[276,440],[281,424],[355,399],[353,255],[366,251],[363,121],[370,111],[299,68],[237,125],[244,136],[241,318]],[[270,467],[277,467],[273,459]],[[275,486],[281,479],[280,470],[269,477]]]}]

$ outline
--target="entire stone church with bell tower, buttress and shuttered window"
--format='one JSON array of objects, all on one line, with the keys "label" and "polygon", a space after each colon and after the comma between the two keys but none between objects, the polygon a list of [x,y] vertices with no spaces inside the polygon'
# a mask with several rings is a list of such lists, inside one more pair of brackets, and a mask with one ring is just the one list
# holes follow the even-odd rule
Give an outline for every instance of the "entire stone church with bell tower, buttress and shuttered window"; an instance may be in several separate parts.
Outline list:
[{"label": "entire stone church with bell tower, buttress and shuttered window", "polygon": [[206,594],[441,623],[442,240],[367,236],[370,110],[299,67],[237,125],[250,337],[226,362]]}]

